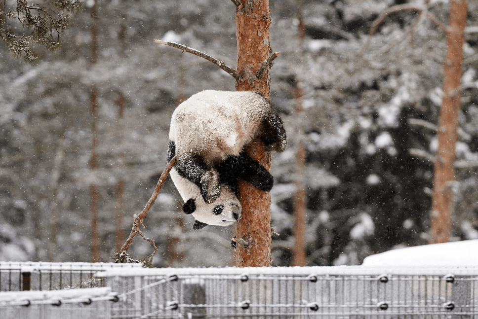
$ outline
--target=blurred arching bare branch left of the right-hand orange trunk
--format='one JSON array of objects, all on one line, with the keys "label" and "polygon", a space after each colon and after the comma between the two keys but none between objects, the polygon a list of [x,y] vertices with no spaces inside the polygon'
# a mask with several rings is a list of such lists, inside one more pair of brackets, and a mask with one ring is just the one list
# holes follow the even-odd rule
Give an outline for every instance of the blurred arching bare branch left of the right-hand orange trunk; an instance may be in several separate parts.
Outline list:
[{"label": "blurred arching bare branch left of the right-hand orange trunk", "polygon": [[420,16],[418,17],[417,21],[413,24],[413,26],[405,33],[405,35],[402,36],[402,39],[400,39],[398,41],[393,41],[393,43],[391,43],[390,46],[387,47],[385,52],[390,50],[397,43],[401,42],[407,35],[413,34],[413,32],[418,28],[418,26],[424,20],[424,17],[429,18],[430,21],[432,21],[434,24],[436,24],[438,26],[438,28],[440,28],[445,34],[448,32],[448,28],[445,25],[443,25],[437,19],[437,17],[435,17],[432,13],[430,13],[428,11],[428,7],[418,6],[416,4],[409,4],[409,3],[394,5],[394,6],[390,7],[388,10],[386,10],[385,12],[383,12],[377,19],[375,19],[375,21],[373,21],[372,27],[370,28],[370,32],[368,33],[367,41],[365,42],[365,45],[363,46],[363,49],[362,49],[362,55],[365,54],[365,52],[366,52],[366,50],[367,50],[367,48],[370,44],[370,41],[372,39],[372,35],[375,34],[375,32],[378,29],[378,26],[380,26],[380,24],[392,13],[399,12],[399,11],[405,11],[405,10],[416,11],[416,12],[419,13]]}]

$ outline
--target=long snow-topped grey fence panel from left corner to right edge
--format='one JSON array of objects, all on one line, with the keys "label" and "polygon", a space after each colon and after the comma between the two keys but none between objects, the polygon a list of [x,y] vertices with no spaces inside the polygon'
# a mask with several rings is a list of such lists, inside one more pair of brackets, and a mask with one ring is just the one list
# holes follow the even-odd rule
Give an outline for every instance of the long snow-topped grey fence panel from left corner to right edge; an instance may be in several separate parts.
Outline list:
[{"label": "long snow-topped grey fence panel from left corner to right edge", "polygon": [[112,318],[478,318],[478,268],[111,270]]}]

